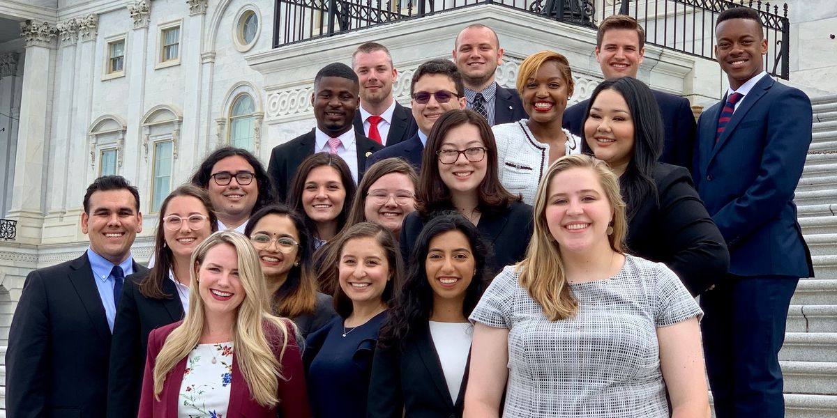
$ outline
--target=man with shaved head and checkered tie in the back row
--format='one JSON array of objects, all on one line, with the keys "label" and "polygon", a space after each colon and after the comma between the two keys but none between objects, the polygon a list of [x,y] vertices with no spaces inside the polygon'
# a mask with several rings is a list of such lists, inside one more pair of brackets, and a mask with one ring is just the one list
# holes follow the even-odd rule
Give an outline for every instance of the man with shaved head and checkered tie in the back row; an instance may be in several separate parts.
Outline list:
[{"label": "man with shaved head and checkered tie in the back row", "polygon": [[480,23],[462,29],[456,36],[453,55],[465,83],[468,109],[485,116],[491,126],[529,117],[517,90],[503,88],[495,81],[503,48],[493,29]]}]

